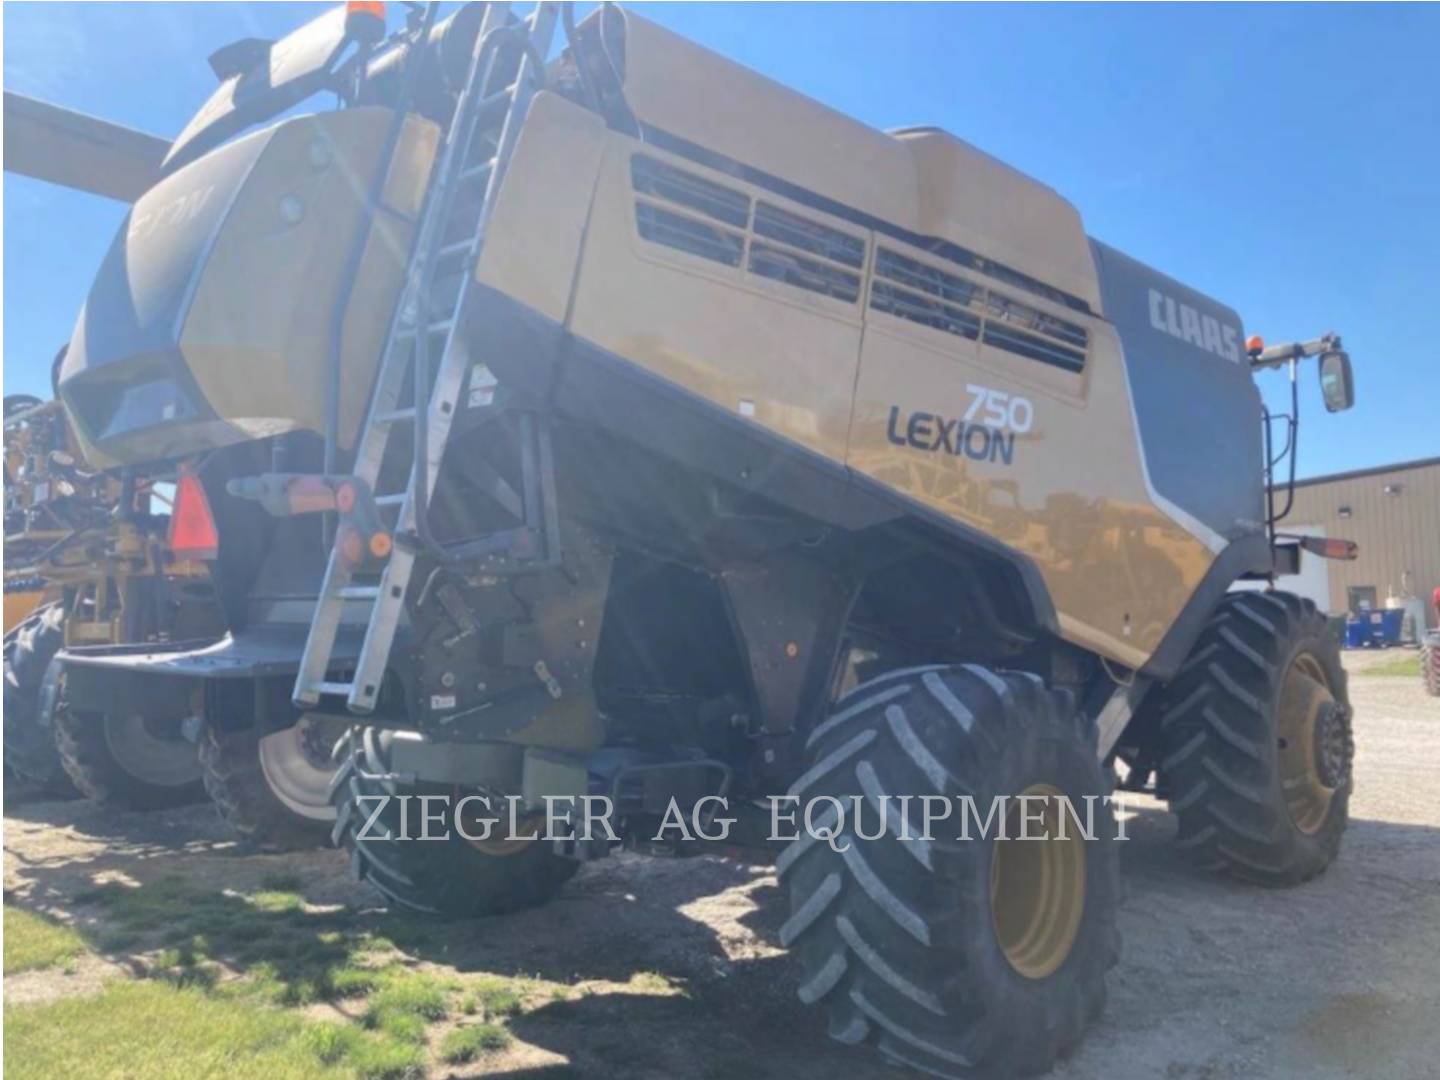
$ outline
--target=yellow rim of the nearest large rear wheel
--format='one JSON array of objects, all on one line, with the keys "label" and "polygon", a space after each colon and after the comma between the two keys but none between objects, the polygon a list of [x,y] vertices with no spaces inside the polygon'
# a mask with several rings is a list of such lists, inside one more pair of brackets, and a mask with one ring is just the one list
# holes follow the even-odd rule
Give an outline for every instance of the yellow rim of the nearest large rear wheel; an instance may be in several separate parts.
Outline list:
[{"label": "yellow rim of the nearest large rear wheel", "polygon": [[1043,979],[1066,962],[1080,935],[1086,841],[1058,788],[1034,783],[1021,795],[1045,796],[1044,827],[1031,809],[1028,828],[1041,838],[1018,840],[1025,804],[1015,804],[991,858],[991,914],[1009,966],[1027,979]]}]

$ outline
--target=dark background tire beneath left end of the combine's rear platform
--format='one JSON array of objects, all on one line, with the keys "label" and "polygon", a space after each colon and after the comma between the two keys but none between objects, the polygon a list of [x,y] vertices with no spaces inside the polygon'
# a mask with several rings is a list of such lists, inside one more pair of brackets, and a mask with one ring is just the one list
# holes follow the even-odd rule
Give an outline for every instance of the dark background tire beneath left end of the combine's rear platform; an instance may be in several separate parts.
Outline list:
[{"label": "dark background tire beneath left end of the combine's rear platform", "polygon": [[167,809],[204,799],[200,760],[180,719],[55,710],[60,763],[81,793],[125,809]]}]

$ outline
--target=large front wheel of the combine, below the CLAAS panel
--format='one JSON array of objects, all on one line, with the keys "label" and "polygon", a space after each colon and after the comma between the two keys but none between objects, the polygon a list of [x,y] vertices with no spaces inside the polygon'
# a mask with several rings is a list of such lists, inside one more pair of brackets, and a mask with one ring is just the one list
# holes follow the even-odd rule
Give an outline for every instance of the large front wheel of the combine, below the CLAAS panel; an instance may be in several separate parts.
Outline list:
[{"label": "large front wheel of the combine, below the CLAAS panel", "polygon": [[1187,854],[1264,886],[1331,864],[1355,743],[1339,647],[1313,603],[1227,596],[1158,706],[1161,779]]}]

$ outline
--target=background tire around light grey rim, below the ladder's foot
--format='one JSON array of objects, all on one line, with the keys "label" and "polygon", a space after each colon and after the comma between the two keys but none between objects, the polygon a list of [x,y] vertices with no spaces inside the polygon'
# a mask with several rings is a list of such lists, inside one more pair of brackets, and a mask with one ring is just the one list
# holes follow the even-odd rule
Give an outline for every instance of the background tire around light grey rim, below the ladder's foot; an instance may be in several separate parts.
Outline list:
[{"label": "background tire around light grey rim, below the ladder's foot", "polygon": [[[292,739],[297,729],[275,732],[268,740]],[[207,724],[200,736],[200,769],[204,791],[220,819],[252,851],[301,851],[324,847],[334,828],[334,808],[323,799],[323,785],[308,805],[291,795],[287,805],[266,779],[261,762],[262,739],[255,727],[222,732]],[[328,773],[327,773],[328,775]],[[301,796],[302,798],[302,796]],[[320,799],[318,802],[315,802]]]}]

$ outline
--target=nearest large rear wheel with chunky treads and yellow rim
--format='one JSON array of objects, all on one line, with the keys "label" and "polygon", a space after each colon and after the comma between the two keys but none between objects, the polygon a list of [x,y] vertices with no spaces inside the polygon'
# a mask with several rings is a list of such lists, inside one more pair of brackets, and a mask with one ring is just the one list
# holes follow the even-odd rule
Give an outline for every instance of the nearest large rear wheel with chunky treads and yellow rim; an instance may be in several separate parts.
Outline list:
[{"label": "nearest large rear wheel with chunky treads and yellow rim", "polygon": [[[1110,782],[1070,694],[975,665],[897,671],[841,698],[806,755],[791,793],[801,814],[840,799],[814,814],[840,835],[832,845],[801,828],[778,860],[791,897],[780,940],[799,953],[801,1001],[825,1008],[829,1034],[948,1077],[1040,1073],[1073,1051],[1119,958],[1120,884]],[[930,840],[900,840],[901,795],[916,796],[913,837],[919,796],[950,798],[953,815]],[[958,840],[955,796],[985,819],[995,799],[1020,795],[1045,796],[1045,828],[1028,827],[1045,840],[1017,837],[1012,798]],[[1079,815],[1063,837],[1056,796]],[[1090,840],[1077,828],[1087,806]]]}]

